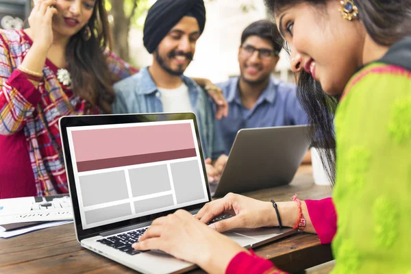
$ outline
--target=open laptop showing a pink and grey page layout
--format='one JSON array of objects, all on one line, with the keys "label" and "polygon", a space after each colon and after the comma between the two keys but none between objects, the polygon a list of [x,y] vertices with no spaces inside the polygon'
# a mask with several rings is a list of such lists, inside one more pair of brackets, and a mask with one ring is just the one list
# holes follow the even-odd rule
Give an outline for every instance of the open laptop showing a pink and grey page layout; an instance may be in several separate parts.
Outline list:
[{"label": "open laptop showing a pink and grey page layout", "polygon": [[[154,219],[178,209],[194,215],[211,201],[195,114],[65,116],[60,131],[79,243],[140,273],[195,269],[131,247]],[[225,234],[257,247],[293,233],[273,227]]]}]

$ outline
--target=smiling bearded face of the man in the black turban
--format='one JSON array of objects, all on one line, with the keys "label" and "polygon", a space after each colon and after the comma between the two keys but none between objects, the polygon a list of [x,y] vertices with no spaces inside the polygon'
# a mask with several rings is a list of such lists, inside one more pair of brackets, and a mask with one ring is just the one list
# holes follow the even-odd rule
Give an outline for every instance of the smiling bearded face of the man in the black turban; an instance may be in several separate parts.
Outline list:
[{"label": "smiling bearded face of the man in the black turban", "polygon": [[182,75],[194,56],[199,37],[197,19],[184,16],[155,49],[155,62],[171,75]]}]

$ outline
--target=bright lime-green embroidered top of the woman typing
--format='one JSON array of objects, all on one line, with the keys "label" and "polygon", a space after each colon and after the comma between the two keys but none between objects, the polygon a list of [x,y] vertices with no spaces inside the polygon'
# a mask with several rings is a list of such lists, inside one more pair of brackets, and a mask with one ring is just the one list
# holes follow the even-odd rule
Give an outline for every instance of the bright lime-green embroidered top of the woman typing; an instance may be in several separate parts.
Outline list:
[{"label": "bright lime-green embroidered top of the woman typing", "polygon": [[411,71],[365,66],[335,125],[333,273],[411,274]]}]

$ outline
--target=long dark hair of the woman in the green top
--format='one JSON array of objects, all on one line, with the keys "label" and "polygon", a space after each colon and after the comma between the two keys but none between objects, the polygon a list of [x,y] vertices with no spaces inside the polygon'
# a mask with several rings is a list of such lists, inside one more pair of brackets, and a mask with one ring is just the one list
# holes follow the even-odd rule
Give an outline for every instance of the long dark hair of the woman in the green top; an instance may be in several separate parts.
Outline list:
[{"label": "long dark hair of the woman in the green top", "polygon": [[[274,16],[275,13],[298,3],[307,2],[321,7],[325,6],[327,0],[264,0],[264,2]],[[410,0],[358,0],[354,3],[358,7],[359,18],[366,32],[377,44],[390,46],[411,35]],[[301,71],[297,78],[297,97],[308,114],[309,123],[314,125],[311,132],[313,146],[325,149],[321,151],[321,161],[329,179],[334,182],[336,141],[333,120],[339,98],[325,94],[319,82],[316,82],[306,71]]]}]

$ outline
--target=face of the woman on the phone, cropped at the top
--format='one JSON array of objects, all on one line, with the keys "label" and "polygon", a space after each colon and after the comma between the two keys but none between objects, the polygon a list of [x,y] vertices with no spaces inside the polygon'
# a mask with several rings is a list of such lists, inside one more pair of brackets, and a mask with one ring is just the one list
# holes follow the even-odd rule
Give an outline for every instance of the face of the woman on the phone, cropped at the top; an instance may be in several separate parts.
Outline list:
[{"label": "face of the woman on the phone, cropped at the top", "polygon": [[58,14],[53,16],[53,30],[63,37],[79,32],[90,20],[99,0],[57,0]]}]

